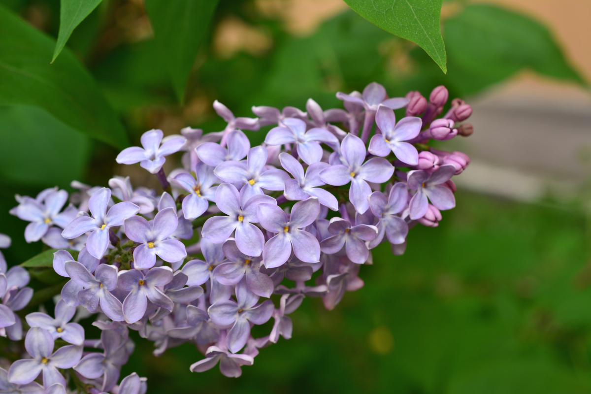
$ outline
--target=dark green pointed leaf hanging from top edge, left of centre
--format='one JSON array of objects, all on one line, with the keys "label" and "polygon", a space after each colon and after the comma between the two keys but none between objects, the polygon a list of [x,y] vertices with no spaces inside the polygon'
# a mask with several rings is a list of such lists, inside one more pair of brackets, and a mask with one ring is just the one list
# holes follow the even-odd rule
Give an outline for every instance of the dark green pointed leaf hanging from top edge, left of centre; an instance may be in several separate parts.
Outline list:
[{"label": "dark green pointed leaf hanging from top edge, left of centre", "polygon": [[[195,63],[218,0],[146,0],[154,27],[159,59],[167,64],[168,74],[182,102],[189,74]],[[157,59],[154,59],[157,61]]]}]

